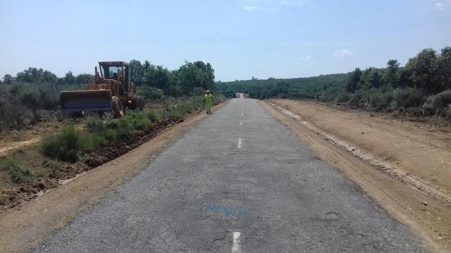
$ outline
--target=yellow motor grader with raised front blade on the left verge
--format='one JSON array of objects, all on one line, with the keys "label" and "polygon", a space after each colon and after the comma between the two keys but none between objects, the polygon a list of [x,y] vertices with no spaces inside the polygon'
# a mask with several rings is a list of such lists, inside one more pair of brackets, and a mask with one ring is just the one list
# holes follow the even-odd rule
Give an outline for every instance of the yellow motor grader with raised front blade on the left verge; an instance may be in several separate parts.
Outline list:
[{"label": "yellow motor grader with raised front blade on the left verge", "polygon": [[127,109],[143,110],[144,98],[136,95],[132,83],[133,68],[124,61],[100,61],[95,80],[88,80],[85,90],[61,91],[61,110],[75,113],[112,111],[115,119]]}]

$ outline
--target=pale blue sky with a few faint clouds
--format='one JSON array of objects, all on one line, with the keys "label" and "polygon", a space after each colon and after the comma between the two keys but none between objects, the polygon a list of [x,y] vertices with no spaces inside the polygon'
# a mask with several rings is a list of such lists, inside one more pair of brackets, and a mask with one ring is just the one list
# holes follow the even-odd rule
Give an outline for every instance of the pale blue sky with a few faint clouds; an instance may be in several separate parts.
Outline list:
[{"label": "pale blue sky with a few faint clouds", "polygon": [[0,77],[136,59],[210,62],[217,81],[296,78],[445,46],[451,0],[0,0]]}]

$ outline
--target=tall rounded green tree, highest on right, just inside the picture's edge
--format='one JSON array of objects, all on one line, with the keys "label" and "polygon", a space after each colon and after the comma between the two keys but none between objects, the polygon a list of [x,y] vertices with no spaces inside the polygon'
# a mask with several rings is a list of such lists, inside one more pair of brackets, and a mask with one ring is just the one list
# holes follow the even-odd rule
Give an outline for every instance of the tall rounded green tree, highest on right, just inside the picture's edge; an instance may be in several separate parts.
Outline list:
[{"label": "tall rounded green tree, highest on right, just inside the picture's edge", "polygon": [[423,49],[408,60],[405,68],[415,88],[422,89],[426,94],[434,94],[442,89],[435,50]]}]

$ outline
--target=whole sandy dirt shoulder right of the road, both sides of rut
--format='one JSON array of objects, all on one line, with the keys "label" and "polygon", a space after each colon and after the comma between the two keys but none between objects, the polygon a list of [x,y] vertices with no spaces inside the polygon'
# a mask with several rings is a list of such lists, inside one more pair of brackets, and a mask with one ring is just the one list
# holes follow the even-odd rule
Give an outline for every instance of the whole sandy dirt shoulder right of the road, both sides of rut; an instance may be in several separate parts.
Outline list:
[{"label": "whole sandy dirt shoulder right of the road, both sides of rut", "polygon": [[[416,173],[424,180],[440,183],[440,189],[449,193],[451,153],[449,143],[446,142],[449,142],[451,136],[446,133],[428,132],[415,128],[412,122],[385,119],[382,114],[368,117],[368,113],[365,116],[364,112],[341,111],[312,102],[270,102],[291,110],[322,131],[352,143],[408,173]],[[273,116],[288,125],[318,156],[345,173],[392,217],[411,228],[432,251],[449,252],[451,208],[448,204],[423,194],[346,149],[339,148],[269,103],[262,104]]]}]

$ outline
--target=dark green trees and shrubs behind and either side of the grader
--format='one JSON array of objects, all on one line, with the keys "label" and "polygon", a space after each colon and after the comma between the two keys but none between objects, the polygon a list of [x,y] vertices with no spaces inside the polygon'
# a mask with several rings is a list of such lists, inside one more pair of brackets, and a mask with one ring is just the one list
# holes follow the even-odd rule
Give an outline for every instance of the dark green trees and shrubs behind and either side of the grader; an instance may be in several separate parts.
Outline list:
[{"label": "dark green trees and shrubs behind and either side of the grader", "polygon": [[[177,70],[169,71],[149,61],[141,64],[131,60],[132,81],[139,86],[137,93],[148,101],[163,101],[168,97],[196,96],[212,89],[214,70],[210,63],[185,62]],[[74,76],[72,72],[58,78],[50,71],[29,67],[15,77],[7,74],[0,81],[0,126],[20,129],[39,120],[53,120],[49,111],[59,109],[59,91],[81,90],[90,74]],[[47,119],[48,118],[48,119]]]}]

